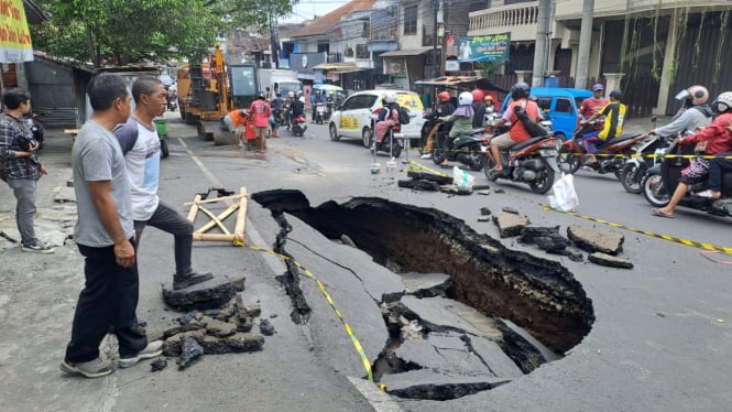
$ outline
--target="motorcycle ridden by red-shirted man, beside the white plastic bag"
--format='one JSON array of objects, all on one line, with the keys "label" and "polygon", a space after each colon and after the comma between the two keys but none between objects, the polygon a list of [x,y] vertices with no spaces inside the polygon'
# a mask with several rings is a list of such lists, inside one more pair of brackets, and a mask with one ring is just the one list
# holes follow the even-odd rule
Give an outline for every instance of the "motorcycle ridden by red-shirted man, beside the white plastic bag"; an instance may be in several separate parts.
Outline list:
[{"label": "motorcycle ridden by red-shirted man, beside the white plastic bag", "polygon": [[[548,124],[542,126],[545,128]],[[494,135],[499,135],[494,131]],[[485,177],[495,182],[499,178],[511,182],[527,183],[534,193],[544,194],[551,189],[554,176],[559,171],[557,166],[557,143],[554,133],[538,138],[532,138],[509,148],[509,152],[501,151],[501,159],[505,165],[501,172],[491,171],[496,164],[496,159],[490,150],[487,151],[488,163],[483,169]]]}]

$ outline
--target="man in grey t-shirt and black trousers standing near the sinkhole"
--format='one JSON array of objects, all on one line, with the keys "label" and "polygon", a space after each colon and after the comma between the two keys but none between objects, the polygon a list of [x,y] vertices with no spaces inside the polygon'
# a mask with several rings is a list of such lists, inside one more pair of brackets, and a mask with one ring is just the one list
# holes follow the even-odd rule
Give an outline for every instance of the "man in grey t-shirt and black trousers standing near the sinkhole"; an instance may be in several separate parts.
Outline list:
[{"label": "man in grey t-shirt and black trousers standing near the sinkhole", "polygon": [[106,73],[89,82],[87,94],[94,112],[72,150],[78,215],[74,239],[85,258],[85,285],[61,369],[99,378],[114,370],[99,354],[107,333],[117,336],[121,368],[160,356],[163,343],[148,343],[135,314],[139,278],[132,198],[122,149],[112,133],[130,116],[130,95],[121,77]]}]

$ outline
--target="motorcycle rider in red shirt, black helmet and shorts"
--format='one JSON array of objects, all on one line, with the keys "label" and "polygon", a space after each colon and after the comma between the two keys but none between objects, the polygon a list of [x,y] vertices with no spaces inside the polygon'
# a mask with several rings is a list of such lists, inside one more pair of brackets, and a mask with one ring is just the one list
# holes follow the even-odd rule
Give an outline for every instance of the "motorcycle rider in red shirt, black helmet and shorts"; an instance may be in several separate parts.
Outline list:
[{"label": "motorcycle rider in red shirt, black helmet and shorts", "polygon": [[509,129],[507,132],[491,139],[491,154],[493,154],[493,159],[495,159],[495,166],[490,171],[492,173],[503,172],[501,149],[509,149],[516,143],[521,143],[532,138],[531,133],[526,130],[526,127],[524,127],[514,113],[514,108],[517,106],[523,107],[528,117],[536,121],[542,117],[538,105],[536,105],[535,101],[528,100],[532,88],[526,83],[520,82],[513,85],[511,88],[511,98],[513,101],[506,108],[503,117],[491,124],[493,128],[499,128],[511,122],[511,129]]}]

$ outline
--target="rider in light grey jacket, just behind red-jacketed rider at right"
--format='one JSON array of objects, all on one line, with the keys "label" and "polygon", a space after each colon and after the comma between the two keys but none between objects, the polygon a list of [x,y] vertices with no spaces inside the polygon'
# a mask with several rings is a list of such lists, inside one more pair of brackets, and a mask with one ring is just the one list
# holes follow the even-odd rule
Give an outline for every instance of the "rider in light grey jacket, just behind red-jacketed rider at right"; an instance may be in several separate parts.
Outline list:
[{"label": "rider in light grey jacket, just behind red-jacketed rider at right", "polygon": [[673,121],[666,126],[655,128],[648,134],[675,135],[685,131],[695,132],[711,123],[712,109],[707,105],[709,90],[704,86],[695,85],[679,91],[676,100],[684,101],[684,106]]}]

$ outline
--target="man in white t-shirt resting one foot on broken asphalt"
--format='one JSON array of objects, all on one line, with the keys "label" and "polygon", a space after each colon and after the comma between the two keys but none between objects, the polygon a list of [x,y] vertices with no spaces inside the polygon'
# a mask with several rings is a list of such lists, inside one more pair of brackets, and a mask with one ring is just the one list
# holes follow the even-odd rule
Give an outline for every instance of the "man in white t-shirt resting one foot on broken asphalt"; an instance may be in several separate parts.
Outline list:
[{"label": "man in white t-shirt resting one foot on broken asphalt", "polygon": [[114,135],[124,153],[127,175],[132,192],[136,245],[140,245],[142,230],[146,225],[175,237],[173,289],[179,290],[205,282],[214,275],[210,272],[197,273],[193,270],[190,263],[193,224],[161,202],[157,196],[161,150],[153,118],[165,112],[165,96],[163,83],[155,77],[142,76],[134,80],[132,84],[134,111],[127,123],[114,129]]}]

